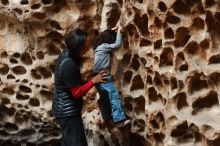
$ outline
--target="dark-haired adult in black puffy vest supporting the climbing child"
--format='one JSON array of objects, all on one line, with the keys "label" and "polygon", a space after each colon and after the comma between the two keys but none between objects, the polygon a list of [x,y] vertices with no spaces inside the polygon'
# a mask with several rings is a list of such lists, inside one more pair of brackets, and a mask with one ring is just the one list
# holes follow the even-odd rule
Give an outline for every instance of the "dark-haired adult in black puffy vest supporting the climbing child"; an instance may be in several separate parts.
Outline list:
[{"label": "dark-haired adult in black puffy vest supporting the climbing child", "polygon": [[84,96],[94,84],[105,82],[106,72],[101,71],[90,81],[82,84],[80,60],[88,51],[87,33],[75,29],[65,36],[66,49],[59,55],[55,69],[53,115],[60,124],[61,146],[87,146],[81,110]]}]

